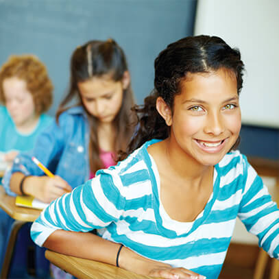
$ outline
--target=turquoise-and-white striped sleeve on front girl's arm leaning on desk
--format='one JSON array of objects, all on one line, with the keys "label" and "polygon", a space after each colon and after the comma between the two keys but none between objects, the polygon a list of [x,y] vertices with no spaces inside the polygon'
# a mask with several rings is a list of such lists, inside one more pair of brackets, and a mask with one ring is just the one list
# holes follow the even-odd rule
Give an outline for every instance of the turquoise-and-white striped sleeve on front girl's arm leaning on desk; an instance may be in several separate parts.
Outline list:
[{"label": "turquoise-and-white striped sleeve on front girl's arm leaning on desk", "polygon": [[125,207],[121,186],[119,176],[113,171],[99,171],[93,180],[56,199],[43,210],[32,224],[33,241],[42,246],[56,230],[89,232],[117,221]]}]

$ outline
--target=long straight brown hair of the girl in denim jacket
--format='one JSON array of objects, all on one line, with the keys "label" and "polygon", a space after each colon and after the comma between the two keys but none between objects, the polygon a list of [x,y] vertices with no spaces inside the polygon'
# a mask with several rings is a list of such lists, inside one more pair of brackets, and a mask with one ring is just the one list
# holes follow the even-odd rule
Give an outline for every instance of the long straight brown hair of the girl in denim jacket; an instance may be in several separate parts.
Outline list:
[{"label": "long straight brown hair of the girl in denim jacket", "polygon": [[[69,92],[58,108],[56,120],[58,121],[60,114],[70,107],[83,106],[90,126],[90,143],[88,148],[90,171],[95,173],[98,169],[104,167],[99,158],[98,119],[88,113],[83,105],[77,83],[104,75],[109,75],[112,80],[119,82],[123,79],[125,71],[128,71],[128,64],[123,49],[114,40],[90,40],[88,43],[75,49],[71,57],[70,70]],[[73,99],[76,99],[76,103],[73,106],[69,106]],[[127,148],[133,134],[135,118],[131,110],[132,106],[134,106],[134,94],[129,84],[126,89],[123,89],[121,108],[113,123],[115,128],[115,153]]]}]

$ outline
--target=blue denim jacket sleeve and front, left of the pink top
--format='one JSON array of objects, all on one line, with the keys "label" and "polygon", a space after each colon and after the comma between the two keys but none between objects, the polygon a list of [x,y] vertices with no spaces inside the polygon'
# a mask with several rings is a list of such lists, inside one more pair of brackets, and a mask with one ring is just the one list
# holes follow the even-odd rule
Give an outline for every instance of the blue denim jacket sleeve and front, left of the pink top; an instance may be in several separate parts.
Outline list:
[{"label": "blue denim jacket sleeve and front, left of the pink top", "polygon": [[36,157],[52,173],[60,175],[72,188],[83,184],[90,176],[88,144],[89,125],[82,106],[69,108],[58,119],[47,126],[38,136],[32,151],[22,152],[14,159],[12,169],[6,171],[3,186],[9,195],[12,173],[44,175],[32,161]]}]

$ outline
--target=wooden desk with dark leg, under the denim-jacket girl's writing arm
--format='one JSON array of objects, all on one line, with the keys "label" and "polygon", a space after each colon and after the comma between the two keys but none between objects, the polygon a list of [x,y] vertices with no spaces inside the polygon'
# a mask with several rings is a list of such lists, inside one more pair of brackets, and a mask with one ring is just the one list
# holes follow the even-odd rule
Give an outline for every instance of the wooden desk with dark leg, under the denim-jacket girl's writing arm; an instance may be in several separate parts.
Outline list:
[{"label": "wooden desk with dark leg, under the denim-jacket girl's writing arm", "polygon": [[8,213],[8,215],[15,220],[12,224],[10,238],[0,275],[0,278],[7,278],[10,270],[12,254],[14,253],[14,245],[16,244],[17,234],[25,223],[35,221],[40,215],[41,210],[16,206],[16,198],[7,195],[1,185],[0,207],[5,211],[5,213]]}]

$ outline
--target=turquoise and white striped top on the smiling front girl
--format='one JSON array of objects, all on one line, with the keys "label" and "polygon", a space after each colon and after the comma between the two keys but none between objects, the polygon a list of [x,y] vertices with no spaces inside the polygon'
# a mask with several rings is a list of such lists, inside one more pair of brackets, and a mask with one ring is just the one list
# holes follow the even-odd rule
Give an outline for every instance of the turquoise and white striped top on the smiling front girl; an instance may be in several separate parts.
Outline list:
[{"label": "turquoise and white striped top on the smiling front girl", "polygon": [[160,201],[160,178],[147,147],[47,207],[32,225],[43,245],[55,230],[88,232],[123,243],[153,260],[185,267],[208,279],[219,276],[238,216],[270,256],[279,257],[279,211],[267,188],[239,151],[215,166],[213,193],[195,221],[175,221]]}]

